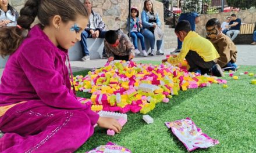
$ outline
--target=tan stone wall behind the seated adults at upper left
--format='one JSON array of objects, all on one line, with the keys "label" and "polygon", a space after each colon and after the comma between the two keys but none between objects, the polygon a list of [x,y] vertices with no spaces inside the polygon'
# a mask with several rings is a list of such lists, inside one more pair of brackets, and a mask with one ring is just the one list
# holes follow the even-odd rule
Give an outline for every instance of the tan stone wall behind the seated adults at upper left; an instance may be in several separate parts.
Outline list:
[{"label": "tan stone wall behind the seated adults at upper left", "polygon": [[[83,0],[80,0],[83,2]],[[25,0],[9,0],[10,5],[19,11]],[[163,3],[153,0],[154,10],[157,11],[163,26]],[[137,6],[140,13],[143,9],[144,0],[133,0],[131,6]],[[108,30],[122,28],[126,30],[127,17],[129,13],[129,0],[93,0],[93,10],[101,14]],[[139,14],[140,16],[141,14]]]}]

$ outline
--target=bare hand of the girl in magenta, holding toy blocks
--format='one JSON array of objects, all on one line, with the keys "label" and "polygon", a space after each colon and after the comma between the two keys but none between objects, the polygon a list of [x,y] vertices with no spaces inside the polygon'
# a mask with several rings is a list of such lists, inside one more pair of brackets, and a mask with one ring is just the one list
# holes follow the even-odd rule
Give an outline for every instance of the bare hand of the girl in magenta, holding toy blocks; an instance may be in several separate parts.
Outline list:
[{"label": "bare hand of the girl in magenta, holding toy blocks", "polygon": [[122,126],[120,125],[120,123],[114,118],[105,118],[105,117],[99,116],[97,124],[101,128],[112,129],[116,133],[119,133],[122,129]]}]

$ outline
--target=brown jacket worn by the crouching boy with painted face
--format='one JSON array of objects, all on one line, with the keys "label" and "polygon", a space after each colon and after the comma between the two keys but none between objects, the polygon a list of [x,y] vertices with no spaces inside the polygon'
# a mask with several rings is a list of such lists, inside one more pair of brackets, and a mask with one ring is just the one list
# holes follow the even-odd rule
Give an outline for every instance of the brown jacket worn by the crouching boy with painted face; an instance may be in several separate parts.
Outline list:
[{"label": "brown jacket worn by the crouching boy with painted face", "polygon": [[233,41],[227,35],[221,33],[218,37],[209,39],[209,41],[214,44],[215,49],[219,53],[220,57],[217,59],[217,64],[224,67],[229,62],[236,62],[236,45],[234,45]]}]

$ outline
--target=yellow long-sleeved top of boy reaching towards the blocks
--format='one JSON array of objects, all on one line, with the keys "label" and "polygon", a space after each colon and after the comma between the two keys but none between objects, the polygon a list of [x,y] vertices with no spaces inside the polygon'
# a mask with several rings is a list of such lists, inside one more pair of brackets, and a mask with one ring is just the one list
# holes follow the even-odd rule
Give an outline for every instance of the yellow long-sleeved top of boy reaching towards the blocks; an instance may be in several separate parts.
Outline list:
[{"label": "yellow long-sleeved top of boy reaching towards the blocks", "polygon": [[219,58],[219,53],[208,39],[201,37],[194,31],[190,31],[184,38],[182,50],[178,56],[170,57],[168,62],[171,64],[182,62],[189,50],[197,52],[204,61],[212,61]]}]

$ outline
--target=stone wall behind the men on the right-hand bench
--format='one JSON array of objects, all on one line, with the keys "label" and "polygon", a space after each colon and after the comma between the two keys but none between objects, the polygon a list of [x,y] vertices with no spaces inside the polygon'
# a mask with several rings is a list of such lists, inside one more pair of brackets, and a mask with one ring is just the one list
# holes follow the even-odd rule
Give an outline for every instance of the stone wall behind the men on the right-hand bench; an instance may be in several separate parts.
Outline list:
[{"label": "stone wall behind the men on the right-hand bench", "polygon": [[222,24],[223,21],[226,21],[226,18],[233,13],[236,14],[236,16],[241,19],[242,23],[256,22],[256,9],[240,10],[239,12],[222,12],[218,14],[202,14],[200,16],[200,22],[196,25],[195,31],[197,31],[198,34],[205,37],[206,36],[205,24],[209,19],[217,18]]}]

